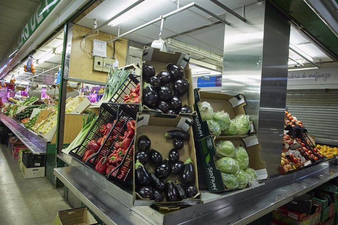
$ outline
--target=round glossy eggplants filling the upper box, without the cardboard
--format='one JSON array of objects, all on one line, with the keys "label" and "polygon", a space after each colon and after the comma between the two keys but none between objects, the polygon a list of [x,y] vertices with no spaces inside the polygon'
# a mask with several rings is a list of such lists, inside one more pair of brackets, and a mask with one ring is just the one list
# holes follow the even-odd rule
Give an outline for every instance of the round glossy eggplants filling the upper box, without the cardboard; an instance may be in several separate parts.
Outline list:
[{"label": "round glossy eggplants filling the upper box, without the cardboard", "polygon": [[181,96],[189,90],[189,81],[183,78],[183,69],[175,64],[168,64],[155,76],[155,68],[143,64],[142,79],[145,81],[142,102],[149,109],[167,113],[191,113],[191,106],[182,106]]}]

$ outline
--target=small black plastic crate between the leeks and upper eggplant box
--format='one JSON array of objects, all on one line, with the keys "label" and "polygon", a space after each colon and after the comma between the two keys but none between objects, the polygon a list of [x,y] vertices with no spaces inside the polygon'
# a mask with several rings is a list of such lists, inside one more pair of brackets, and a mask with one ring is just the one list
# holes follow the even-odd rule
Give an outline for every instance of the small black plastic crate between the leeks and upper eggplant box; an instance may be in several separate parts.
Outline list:
[{"label": "small black plastic crate between the leeks and upper eggplant box", "polygon": [[140,83],[140,76],[130,73],[109,102],[124,103],[124,95],[129,95],[130,90],[135,88],[138,83]]}]

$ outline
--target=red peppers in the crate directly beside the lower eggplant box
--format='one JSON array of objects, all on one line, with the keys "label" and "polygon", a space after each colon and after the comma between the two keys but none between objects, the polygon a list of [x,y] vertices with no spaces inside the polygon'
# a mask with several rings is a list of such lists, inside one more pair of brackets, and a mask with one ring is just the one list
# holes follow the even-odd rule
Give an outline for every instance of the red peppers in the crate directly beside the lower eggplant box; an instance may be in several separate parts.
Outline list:
[{"label": "red peppers in the crate directly beside the lower eggplant box", "polygon": [[[116,126],[114,131],[120,129],[121,130],[121,125],[119,121]],[[131,120],[127,122],[127,129],[124,132],[123,135],[118,136],[118,132],[111,132],[111,136],[108,138],[108,141],[106,142],[106,145],[108,144],[109,146],[113,144],[114,142],[114,150],[113,152],[108,156],[108,157],[102,157],[100,160],[97,162],[95,170],[100,173],[100,174],[106,174],[109,175],[115,168],[120,166],[120,164],[123,161],[123,158],[126,156],[126,161],[124,162],[124,166],[127,166],[127,168],[121,168],[119,174],[117,174],[116,170],[112,176],[117,177],[118,179],[123,179],[128,171],[128,167],[132,165],[130,163],[132,161],[132,156],[133,156],[133,151],[134,151],[134,146],[132,145],[130,148],[130,151],[128,152],[128,148],[134,138],[135,135],[135,120]],[[107,146],[107,147],[109,147]]]}]

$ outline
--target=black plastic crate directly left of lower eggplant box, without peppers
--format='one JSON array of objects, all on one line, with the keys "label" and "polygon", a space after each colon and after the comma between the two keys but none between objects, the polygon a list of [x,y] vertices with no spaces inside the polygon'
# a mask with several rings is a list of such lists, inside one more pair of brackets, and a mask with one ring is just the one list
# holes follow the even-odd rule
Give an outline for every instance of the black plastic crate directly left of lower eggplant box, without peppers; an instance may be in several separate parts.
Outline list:
[{"label": "black plastic crate directly left of lower eggplant box, without peppers", "polygon": [[[107,103],[114,104],[114,103]],[[139,112],[139,104],[121,104],[118,111],[118,119],[114,124],[112,130],[108,133],[107,138],[98,150],[97,154],[89,158],[85,164],[95,169],[97,163],[102,157],[108,157],[110,154],[117,150],[114,146],[115,142],[118,141],[119,136],[123,136],[127,130],[127,122],[136,120],[137,112]],[[118,180],[124,184],[131,184],[131,172],[133,169],[133,143],[132,139],[129,147],[127,148],[121,164],[118,165],[112,172],[107,176],[108,180]]]}]

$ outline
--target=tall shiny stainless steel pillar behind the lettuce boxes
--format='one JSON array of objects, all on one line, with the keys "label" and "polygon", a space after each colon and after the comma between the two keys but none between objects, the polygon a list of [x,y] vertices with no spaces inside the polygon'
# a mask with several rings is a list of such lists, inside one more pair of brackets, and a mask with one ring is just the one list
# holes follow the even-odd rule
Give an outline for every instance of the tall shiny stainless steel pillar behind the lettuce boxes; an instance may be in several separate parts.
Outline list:
[{"label": "tall shiny stainless steel pillar behind the lettuce boxes", "polygon": [[231,26],[225,26],[222,91],[244,94],[272,177],[280,166],[290,24],[266,1],[246,6],[245,19],[227,16]]}]

